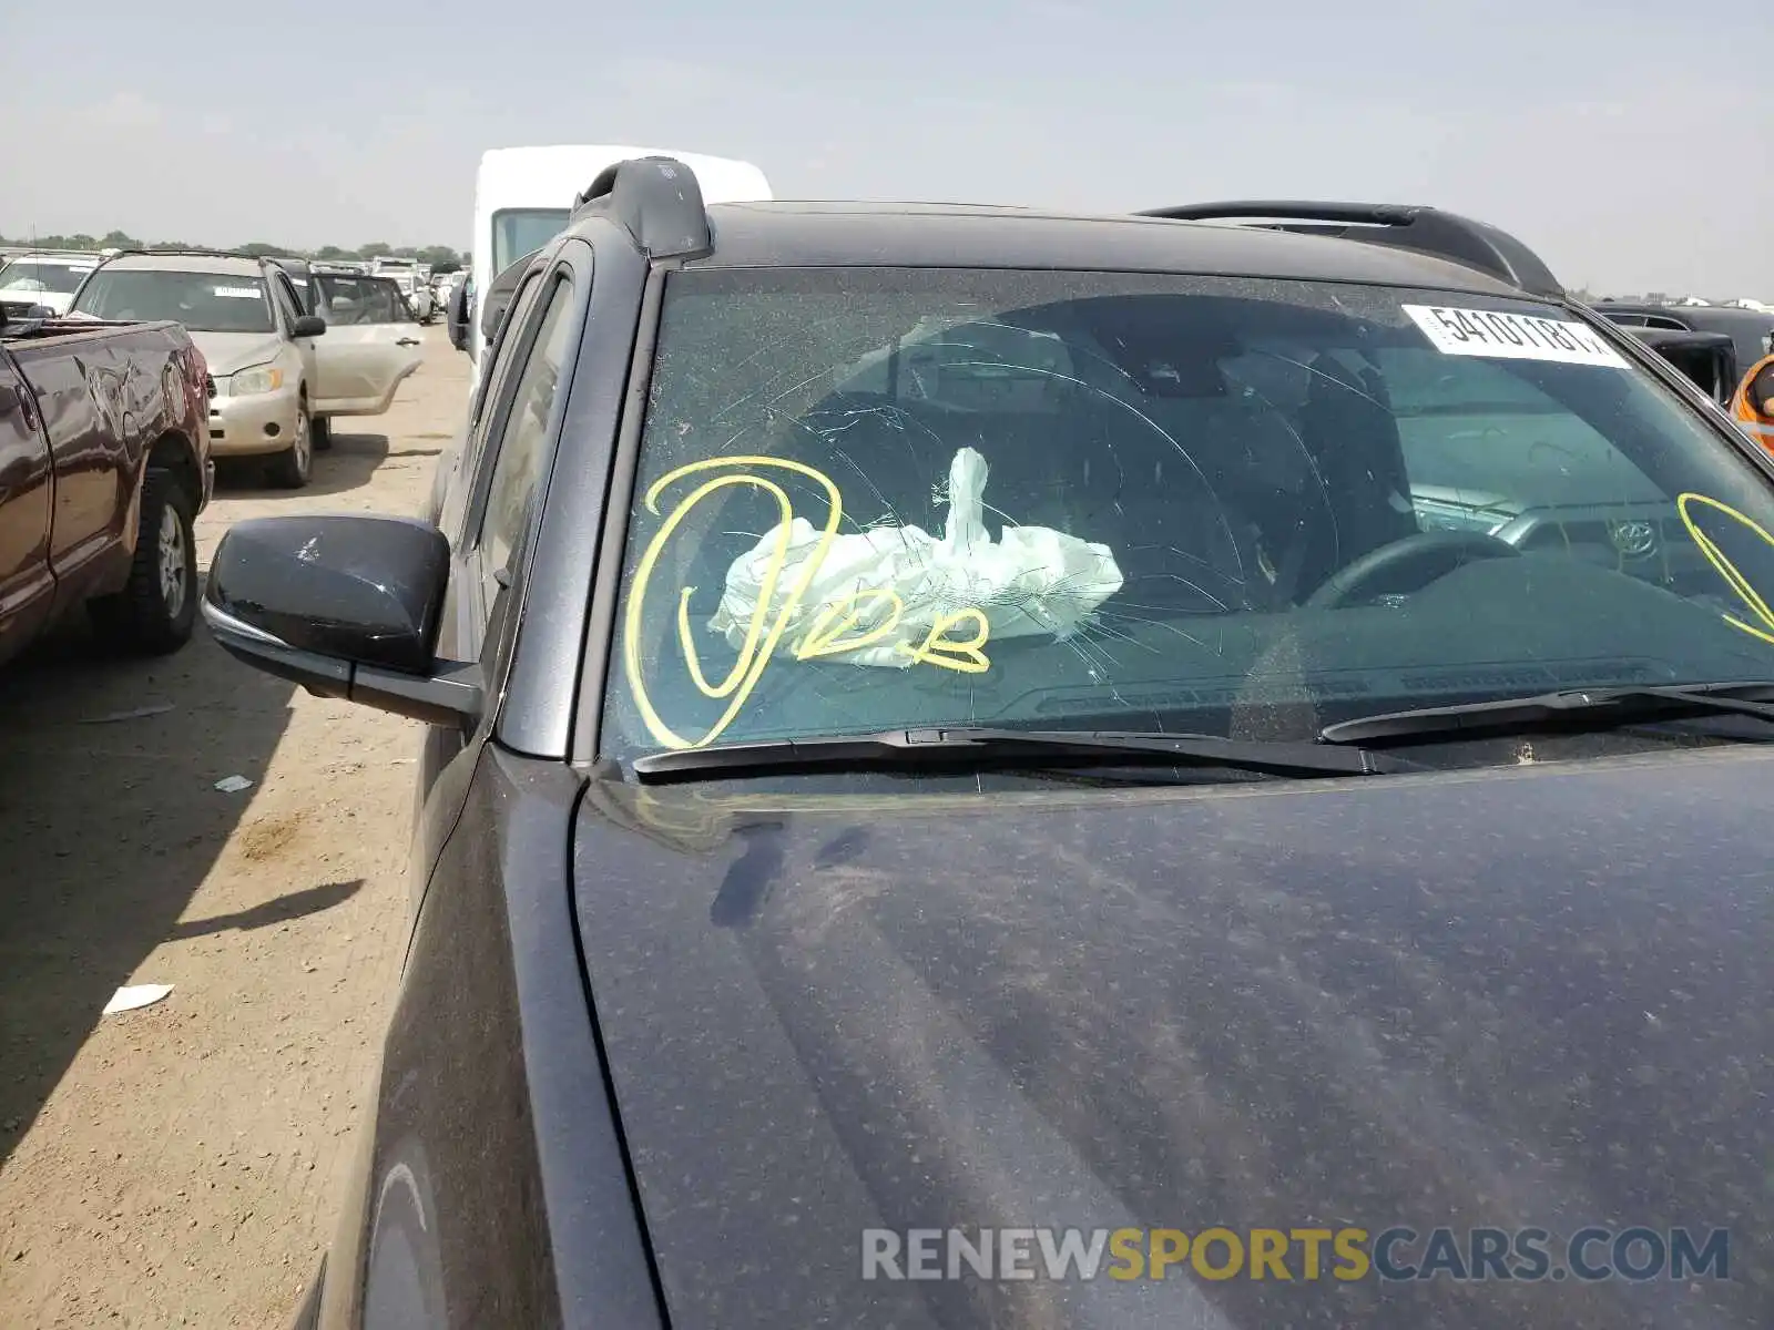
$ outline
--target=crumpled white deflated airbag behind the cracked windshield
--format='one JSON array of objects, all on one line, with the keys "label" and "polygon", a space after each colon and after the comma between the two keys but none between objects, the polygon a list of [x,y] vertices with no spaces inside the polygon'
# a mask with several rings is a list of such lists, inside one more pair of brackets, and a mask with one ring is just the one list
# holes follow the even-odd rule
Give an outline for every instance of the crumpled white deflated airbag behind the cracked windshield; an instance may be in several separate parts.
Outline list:
[{"label": "crumpled white deflated airbag behind the cracked windshield", "polygon": [[[1048,527],[1006,523],[993,541],[985,527],[985,456],[962,449],[949,465],[949,514],[940,539],[919,527],[891,525],[832,537],[777,640],[777,654],[795,656],[809,630],[820,630],[821,640],[867,638],[855,651],[821,651],[821,660],[905,669],[938,622],[967,610],[985,614],[988,640],[1075,633],[1121,589],[1114,553],[1107,544]],[[708,626],[734,649],[745,644],[781,532],[781,525],[772,527],[727,569],[726,594]],[[807,560],[818,548],[820,530],[795,518],[788,559],[770,598],[770,622],[807,575]],[[899,617],[887,628],[894,598]],[[965,628],[958,631],[967,635]]]}]

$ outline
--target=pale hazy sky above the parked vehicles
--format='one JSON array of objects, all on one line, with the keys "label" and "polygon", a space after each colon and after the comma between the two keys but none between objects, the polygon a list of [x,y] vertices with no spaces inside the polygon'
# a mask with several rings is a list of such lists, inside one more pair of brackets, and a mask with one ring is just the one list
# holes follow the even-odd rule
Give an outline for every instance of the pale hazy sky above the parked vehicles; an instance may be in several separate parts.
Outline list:
[{"label": "pale hazy sky above the parked vehicles", "polygon": [[7,7],[9,236],[465,246],[483,149],[637,142],[800,199],[1432,202],[1570,286],[1774,300],[1769,5]]}]

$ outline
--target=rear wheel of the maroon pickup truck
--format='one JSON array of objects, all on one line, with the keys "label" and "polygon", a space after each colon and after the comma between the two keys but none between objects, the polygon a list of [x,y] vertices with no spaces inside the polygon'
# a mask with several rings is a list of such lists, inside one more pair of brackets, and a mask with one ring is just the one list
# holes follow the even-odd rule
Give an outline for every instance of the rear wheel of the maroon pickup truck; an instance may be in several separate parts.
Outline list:
[{"label": "rear wheel of the maroon pickup truck", "polygon": [[87,605],[92,626],[114,651],[163,656],[190,642],[197,626],[192,507],[192,497],[172,472],[147,473],[130,580],[115,596]]}]

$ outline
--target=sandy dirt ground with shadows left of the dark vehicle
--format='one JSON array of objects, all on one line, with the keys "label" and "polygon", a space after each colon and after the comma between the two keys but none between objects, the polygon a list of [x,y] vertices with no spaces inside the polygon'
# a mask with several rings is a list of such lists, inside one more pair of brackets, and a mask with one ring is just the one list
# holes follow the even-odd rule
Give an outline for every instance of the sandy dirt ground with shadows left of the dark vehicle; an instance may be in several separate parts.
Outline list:
[{"label": "sandy dirt ground with shadows left of the dark vehicle", "polygon": [[[412,512],[461,420],[440,328],[314,484],[224,475],[229,523]],[[140,708],[156,715],[119,718]],[[0,672],[0,1326],[282,1326],[332,1234],[406,943],[419,732],[197,638],[83,624]],[[252,787],[225,794],[224,777]],[[163,1002],[103,1016],[122,984]]]}]

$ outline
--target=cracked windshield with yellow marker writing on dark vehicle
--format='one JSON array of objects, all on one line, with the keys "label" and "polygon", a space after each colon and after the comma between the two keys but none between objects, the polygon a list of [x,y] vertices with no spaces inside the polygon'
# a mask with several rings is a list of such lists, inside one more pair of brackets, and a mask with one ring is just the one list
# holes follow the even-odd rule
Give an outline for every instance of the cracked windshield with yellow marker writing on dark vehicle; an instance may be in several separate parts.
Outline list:
[{"label": "cracked windshield with yellow marker writing on dark vehicle", "polygon": [[1769,576],[1758,527],[1747,465],[1550,305],[690,270],[667,287],[605,747],[1306,738],[1758,679],[1774,619],[1735,591]]}]

